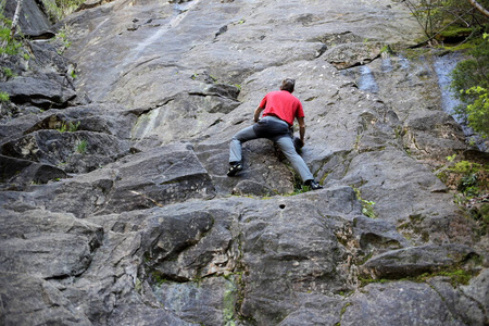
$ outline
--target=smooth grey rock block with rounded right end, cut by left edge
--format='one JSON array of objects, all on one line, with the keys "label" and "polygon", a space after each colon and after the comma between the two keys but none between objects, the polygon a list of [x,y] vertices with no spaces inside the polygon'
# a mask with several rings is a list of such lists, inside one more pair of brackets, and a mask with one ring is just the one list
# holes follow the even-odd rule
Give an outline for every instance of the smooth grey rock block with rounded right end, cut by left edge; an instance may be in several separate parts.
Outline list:
[{"label": "smooth grey rock block with rounded right end, cut by left edge", "polygon": [[63,278],[83,274],[100,247],[102,229],[72,214],[30,210],[2,211],[3,273]]}]

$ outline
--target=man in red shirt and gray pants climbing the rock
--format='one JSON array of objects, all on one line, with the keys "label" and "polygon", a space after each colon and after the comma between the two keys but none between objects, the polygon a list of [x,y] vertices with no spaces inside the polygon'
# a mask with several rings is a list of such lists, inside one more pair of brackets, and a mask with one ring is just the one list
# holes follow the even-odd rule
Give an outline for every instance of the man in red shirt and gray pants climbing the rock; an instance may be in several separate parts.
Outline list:
[{"label": "man in red shirt and gray pants climbing the rock", "polygon": [[[299,148],[304,146],[304,111],[302,110],[302,103],[292,95],[294,86],[294,79],[284,79],[280,90],[268,92],[254,111],[255,124],[233,137],[229,145],[230,167],[227,172],[228,176],[234,176],[242,170],[241,145],[243,142],[256,138],[267,138],[278,145],[278,148],[299,173],[305,186],[309,186],[312,190],[323,188],[314,180],[314,176],[304,160],[298,154],[292,140],[292,125],[293,120],[297,118],[300,138],[296,138],[296,141],[299,142]],[[262,112],[262,118],[260,118]]]}]

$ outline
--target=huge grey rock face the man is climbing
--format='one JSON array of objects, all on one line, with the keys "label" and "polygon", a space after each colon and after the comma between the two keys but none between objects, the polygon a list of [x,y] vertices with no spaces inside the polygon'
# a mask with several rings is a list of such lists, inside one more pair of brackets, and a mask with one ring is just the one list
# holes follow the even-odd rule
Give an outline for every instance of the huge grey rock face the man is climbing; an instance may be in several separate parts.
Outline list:
[{"label": "huge grey rock face the man is climbing", "polygon": [[[340,2],[89,1],[64,57],[8,59],[0,324],[487,325],[487,229],[432,172],[469,147],[403,54],[416,23]],[[267,140],[226,176],[285,77],[322,190]]]}]

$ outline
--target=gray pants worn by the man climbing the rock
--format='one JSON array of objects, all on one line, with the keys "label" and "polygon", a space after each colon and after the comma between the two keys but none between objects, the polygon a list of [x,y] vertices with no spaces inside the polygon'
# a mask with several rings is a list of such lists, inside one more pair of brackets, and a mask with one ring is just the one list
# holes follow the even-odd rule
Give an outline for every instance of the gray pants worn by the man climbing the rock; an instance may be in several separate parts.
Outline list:
[{"label": "gray pants worn by the man climbing the rock", "polygon": [[274,141],[299,173],[302,181],[312,180],[314,176],[293,147],[292,134],[289,125],[275,116],[262,117],[256,124],[236,134],[229,145],[229,164],[241,162],[242,143],[248,140],[266,138]]}]

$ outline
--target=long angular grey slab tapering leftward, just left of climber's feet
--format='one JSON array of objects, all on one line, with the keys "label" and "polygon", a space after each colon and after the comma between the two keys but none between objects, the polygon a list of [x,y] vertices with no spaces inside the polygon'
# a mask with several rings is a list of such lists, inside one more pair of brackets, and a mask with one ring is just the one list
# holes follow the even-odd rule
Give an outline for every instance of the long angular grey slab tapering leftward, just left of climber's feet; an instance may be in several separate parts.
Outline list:
[{"label": "long angular grey slab tapering leftward, just left of climber's feet", "polygon": [[34,204],[77,217],[211,199],[215,189],[190,145],[155,148],[128,155],[103,168],[37,189]]}]

